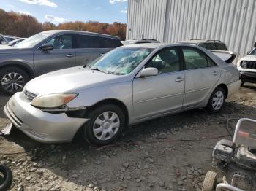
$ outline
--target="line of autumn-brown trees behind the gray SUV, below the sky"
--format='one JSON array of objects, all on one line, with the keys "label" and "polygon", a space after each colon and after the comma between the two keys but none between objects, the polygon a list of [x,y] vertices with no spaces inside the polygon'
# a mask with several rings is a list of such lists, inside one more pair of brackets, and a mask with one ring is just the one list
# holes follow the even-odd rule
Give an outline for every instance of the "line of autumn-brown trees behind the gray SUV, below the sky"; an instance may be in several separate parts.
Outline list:
[{"label": "line of autumn-brown trees behind the gray SUV, below the sky", "polygon": [[41,31],[67,29],[77,31],[90,31],[101,34],[110,34],[119,36],[121,40],[125,39],[126,24],[124,23],[99,23],[89,21],[86,23],[75,21],[59,23],[55,25],[50,22],[39,23],[38,20],[31,16],[18,12],[6,12],[0,9],[0,34],[9,34],[19,37],[29,37]]}]

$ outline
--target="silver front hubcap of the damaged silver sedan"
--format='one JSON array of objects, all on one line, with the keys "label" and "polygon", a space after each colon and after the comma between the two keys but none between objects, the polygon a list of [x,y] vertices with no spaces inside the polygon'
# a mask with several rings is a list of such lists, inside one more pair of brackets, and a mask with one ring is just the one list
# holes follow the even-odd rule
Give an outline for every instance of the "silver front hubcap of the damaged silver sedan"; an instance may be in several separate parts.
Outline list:
[{"label": "silver front hubcap of the damaged silver sedan", "polygon": [[120,128],[120,120],[115,112],[104,112],[99,114],[99,117],[94,121],[94,136],[101,140],[106,141],[113,138]]}]

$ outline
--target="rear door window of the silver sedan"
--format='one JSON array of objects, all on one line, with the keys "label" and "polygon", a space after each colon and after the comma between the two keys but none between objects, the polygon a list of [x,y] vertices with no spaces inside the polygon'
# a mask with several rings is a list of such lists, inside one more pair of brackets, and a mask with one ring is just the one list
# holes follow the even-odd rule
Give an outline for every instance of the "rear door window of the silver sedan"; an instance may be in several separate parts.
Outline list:
[{"label": "rear door window of the silver sedan", "polygon": [[184,55],[186,69],[200,69],[207,67],[207,58],[203,52],[191,48],[183,48],[182,52]]}]

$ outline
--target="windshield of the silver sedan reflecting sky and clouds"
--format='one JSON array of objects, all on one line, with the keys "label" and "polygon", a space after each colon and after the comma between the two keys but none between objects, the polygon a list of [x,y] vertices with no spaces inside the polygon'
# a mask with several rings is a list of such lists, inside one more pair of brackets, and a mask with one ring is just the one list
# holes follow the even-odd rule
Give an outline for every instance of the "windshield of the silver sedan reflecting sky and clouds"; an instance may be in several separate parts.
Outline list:
[{"label": "windshield of the silver sedan reflecting sky and clouds", "polygon": [[150,48],[121,47],[91,63],[90,69],[116,75],[129,74],[151,51]]}]

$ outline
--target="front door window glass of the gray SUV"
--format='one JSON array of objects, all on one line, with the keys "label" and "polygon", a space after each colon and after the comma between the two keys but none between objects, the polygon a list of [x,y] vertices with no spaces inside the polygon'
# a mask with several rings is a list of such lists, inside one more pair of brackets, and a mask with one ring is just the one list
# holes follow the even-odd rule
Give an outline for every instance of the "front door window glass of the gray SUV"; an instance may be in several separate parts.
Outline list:
[{"label": "front door window glass of the gray SUV", "polygon": [[48,44],[53,45],[53,49],[72,49],[72,35],[56,36]]}]

